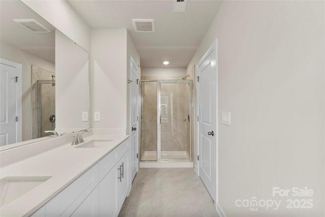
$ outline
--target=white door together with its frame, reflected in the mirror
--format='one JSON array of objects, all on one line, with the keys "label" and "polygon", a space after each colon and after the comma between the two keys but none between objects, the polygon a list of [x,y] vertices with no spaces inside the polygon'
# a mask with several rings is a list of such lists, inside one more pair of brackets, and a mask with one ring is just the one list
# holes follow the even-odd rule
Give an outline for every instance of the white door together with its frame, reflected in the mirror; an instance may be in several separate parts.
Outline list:
[{"label": "white door together with its frame, reflected in the mirror", "polygon": [[[6,62],[6,64],[4,64]],[[7,64],[7,62],[9,64]],[[21,65],[10,66],[1,59],[0,65],[0,146],[21,141]],[[20,69],[17,69],[17,67]],[[17,78],[16,78],[17,77]]]}]

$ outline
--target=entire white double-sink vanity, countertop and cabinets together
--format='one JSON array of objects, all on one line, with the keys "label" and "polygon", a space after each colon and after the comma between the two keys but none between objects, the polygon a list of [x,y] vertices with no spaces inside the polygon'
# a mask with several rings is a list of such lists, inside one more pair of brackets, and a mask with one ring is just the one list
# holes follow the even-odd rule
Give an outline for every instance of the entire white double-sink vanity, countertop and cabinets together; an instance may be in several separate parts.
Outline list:
[{"label": "entire white double-sink vanity, countertop and cabinets together", "polygon": [[131,190],[129,138],[84,140],[2,167],[0,215],[117,216]]}]

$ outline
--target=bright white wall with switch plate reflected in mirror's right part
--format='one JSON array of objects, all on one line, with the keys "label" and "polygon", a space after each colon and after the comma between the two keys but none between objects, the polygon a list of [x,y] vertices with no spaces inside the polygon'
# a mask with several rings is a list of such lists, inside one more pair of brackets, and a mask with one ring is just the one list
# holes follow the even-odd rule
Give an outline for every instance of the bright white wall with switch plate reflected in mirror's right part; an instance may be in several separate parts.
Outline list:
[{"label": "bright white wall with switch plate reflected in mirror's right part", "polygon": [[55,31],[55,130],[69,133],[89,128],[82,112],[89,112],[89,55]]}]

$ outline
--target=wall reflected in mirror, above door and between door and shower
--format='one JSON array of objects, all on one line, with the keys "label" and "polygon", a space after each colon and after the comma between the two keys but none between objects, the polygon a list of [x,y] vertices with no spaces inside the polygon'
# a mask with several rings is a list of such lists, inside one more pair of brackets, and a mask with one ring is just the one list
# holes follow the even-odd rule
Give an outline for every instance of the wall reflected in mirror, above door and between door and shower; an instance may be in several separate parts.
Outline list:
[{"label": "wall reflected in mirror, above door and between door and shower", "polygon": [[22,140],[31,139],[31,65],[55,72],[54,63],[1,41],[0,57],[22,65]]}]

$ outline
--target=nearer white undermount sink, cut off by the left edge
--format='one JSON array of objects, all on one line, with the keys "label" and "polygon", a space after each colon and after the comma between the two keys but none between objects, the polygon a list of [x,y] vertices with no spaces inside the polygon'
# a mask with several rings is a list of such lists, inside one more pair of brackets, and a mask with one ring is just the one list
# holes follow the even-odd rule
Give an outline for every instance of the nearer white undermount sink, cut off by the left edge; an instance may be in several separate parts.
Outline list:
[{"label": "nearer white undermount sink, cut off by the left edge", "polygon": [[1,206],[36,188],[52,176],[7,176],[0,179]]}]

